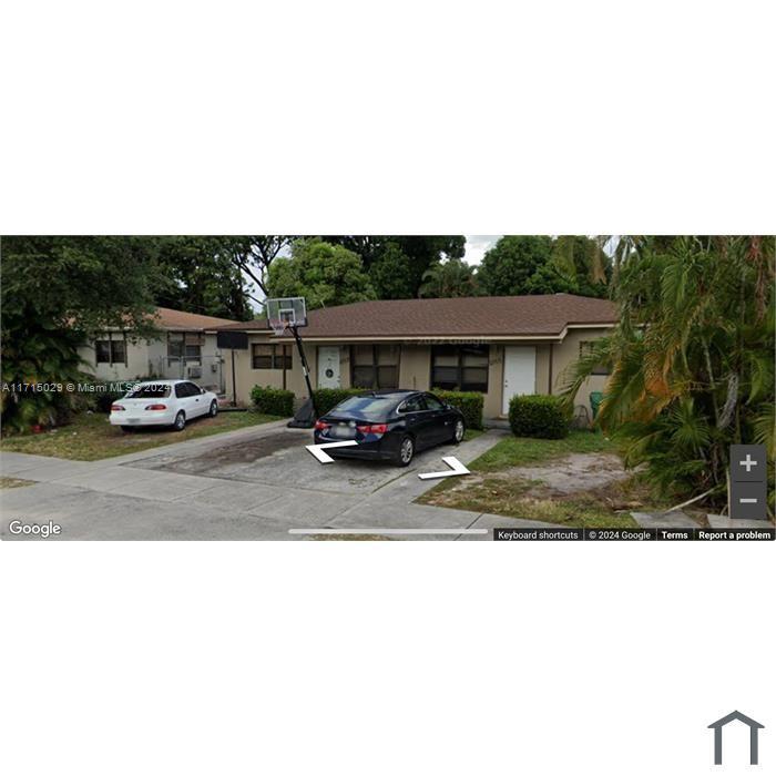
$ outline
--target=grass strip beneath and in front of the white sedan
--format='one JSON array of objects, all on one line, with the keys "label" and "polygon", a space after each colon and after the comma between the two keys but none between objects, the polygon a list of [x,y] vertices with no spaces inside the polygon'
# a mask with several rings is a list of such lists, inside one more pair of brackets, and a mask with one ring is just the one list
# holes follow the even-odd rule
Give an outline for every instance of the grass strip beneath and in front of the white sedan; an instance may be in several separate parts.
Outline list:
[{"label": "grass strip beneath and in front of the white sedan", "polygon": [[219,412],[215,418],[192,420],[183,431],[146,427],[124,433],[120,428],[108,422],[106,415],[94,412],[80,415],[68,426],[43,433],[4,437],[0,440],[0,450],[70,458],[76,461],[95,461],[162,445],[183,442],[186,439],[207,437],[212,433],[234,431],[247,426],[258,426],[272,420],[279,420],[279,418],[251,410]]}]

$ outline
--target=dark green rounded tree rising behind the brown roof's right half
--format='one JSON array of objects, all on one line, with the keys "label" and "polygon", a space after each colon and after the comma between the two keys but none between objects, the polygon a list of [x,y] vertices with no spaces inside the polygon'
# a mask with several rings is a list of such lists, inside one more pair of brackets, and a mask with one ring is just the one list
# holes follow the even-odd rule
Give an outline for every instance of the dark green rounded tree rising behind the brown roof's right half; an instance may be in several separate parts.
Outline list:
[{"label": "dark green rounded tree rising behind the brown roof's right half", "polygon": [[[550,261],[552,239],[545,235],[507,235],[486,253],[478,272],[488,296],[535,293],[530,279]],[[545,293],[545,292],[540,292]]]}]

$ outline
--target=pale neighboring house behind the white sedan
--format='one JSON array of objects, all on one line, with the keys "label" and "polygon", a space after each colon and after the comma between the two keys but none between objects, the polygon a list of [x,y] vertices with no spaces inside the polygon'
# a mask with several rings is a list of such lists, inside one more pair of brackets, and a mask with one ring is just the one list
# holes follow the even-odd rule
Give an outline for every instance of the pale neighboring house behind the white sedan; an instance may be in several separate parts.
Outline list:
[{"label": "pale neighboring house behind the white sedan", "polygon": [[113,328],[99,334],[79,355],[84,370],[100,380],[132,380],[136,377],[185,378],[203,388],[223,392],[223,358],[216,347],[215,328],[234,320],[157,307],[156,339],[133,341],[132,333]]}]

